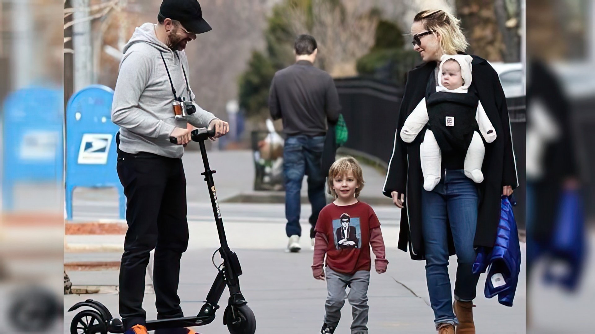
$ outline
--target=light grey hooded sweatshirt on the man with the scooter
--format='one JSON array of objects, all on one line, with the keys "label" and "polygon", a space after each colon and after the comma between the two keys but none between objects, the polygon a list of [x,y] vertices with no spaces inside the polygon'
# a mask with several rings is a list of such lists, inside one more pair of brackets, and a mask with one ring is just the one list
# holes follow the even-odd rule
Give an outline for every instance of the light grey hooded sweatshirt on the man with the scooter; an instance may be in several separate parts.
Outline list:
[{"label": "light grey hooded sweatshirt on the man with the scooter", "polygon": [[[167,63],[176,95],[195,99],[186,86],[184,73],[190,74],[184,51],[174,51],[159,41],[156,25],[145,23],[137,27],[124,46],[120,73],[112,102],[112,121],[120,126],[120,150],[127,153],[149,152],[166,157],[181,157],[184,147],[172,144],[169,137],[174,128],[207,127],[216,117],[196,105],[196,113],[186,120],[176,120],[171,103],[174,94],[161,59]],[[190,78],[188,78],[190,80]]]}]

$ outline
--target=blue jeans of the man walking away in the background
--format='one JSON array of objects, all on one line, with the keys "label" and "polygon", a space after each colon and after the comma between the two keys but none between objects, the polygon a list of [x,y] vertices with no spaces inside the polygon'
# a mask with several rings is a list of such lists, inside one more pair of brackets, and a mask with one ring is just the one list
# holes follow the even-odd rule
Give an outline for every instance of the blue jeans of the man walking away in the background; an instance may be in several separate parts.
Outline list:
[{"label": "blue jeans of the man walking away in the background", "polygon": [[[308,199],[312,204],[312,215],[309,222],[312,228],[318,220],[318,213],[327,204],[324,195],[326,178],[320,171],[320,159],[324,149],[324,137],[309,137],[306,135],[289,136],[283,148],[283,176],[285,178],[285,218],[287,237],[302,236],[299,225],[300,192],[303,176],[308,175]],[[312,235],[312,230],[310,237]]]}]

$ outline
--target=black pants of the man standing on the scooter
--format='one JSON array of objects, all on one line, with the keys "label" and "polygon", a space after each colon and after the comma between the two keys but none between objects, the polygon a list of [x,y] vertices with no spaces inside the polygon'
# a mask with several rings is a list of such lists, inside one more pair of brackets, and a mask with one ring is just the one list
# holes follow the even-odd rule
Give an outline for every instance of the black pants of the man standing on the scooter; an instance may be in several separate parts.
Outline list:
[{"label": "black pants of the man standing on the scooter", "polygon": [[124,326],[145,325],[145,272],[154,248],[157,317],[182,317],[177,289],[180,257],[188,247],[182,161],[151,153],[119,152],[117,169],[126,195],[128,223],[120,267],[119,302]]}]

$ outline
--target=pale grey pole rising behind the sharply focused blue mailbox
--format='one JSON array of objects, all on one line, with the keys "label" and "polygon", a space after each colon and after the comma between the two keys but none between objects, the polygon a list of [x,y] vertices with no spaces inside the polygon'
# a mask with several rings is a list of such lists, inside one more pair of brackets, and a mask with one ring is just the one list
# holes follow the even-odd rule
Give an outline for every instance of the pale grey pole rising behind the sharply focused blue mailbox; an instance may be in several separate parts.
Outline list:
[{"label": "pale grey pole rising behind the sharply focused blue mailbox", "polygon": [[89,0],[71,0],[74,8],[74,92],[93,83],[93,52]]}]

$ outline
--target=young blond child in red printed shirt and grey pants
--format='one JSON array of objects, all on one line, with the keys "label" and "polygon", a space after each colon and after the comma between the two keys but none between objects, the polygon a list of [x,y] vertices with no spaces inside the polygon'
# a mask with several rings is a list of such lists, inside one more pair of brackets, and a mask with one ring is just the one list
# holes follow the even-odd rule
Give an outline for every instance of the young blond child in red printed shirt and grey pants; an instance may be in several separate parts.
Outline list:
[{"label": "young blond child in red printed shirt and grey pants", "polygon": [[335,201],[318,216],[312,265],[314,278],[327,281],[323,334],[334,333],[339,324],[347,286],[350,286],[347,299],[353,308],[351,333],[368,333],[370,246],[376,256],[377,273],[386,272],[389,263],[385,259],[380,222],[372,207],[357,199],[364,183],[362,168],[353,157],[343,157],[330,168],[328,190]]}]

